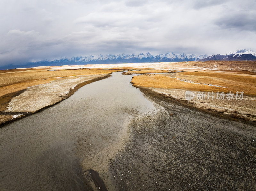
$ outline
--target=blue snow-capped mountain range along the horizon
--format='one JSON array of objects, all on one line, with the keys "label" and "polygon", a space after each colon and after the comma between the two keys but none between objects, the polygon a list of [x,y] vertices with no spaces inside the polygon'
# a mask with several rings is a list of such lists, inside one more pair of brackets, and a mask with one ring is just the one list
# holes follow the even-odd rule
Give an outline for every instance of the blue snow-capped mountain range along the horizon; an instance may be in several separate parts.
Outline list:
[{"label": "blue snow-capped mountain range along the horizon", "polygon": [[[253,60],[256,61],[256,53],[252,50],[238,50],[226,54],[216,54],[212,56],[194,54],[187,55],[185,53],[174,54],[169,52],[166,54],[151,55],[146,54],[99,54],[97,56],[77,56],[68,58],[61,58],[55,60],[45,60],[39,62],[29,62],[19,67],[35,67],[35,66],[54,66],[54,65],[86,65],[86,64],[114,64],[114,63],[143,63],[143,62],[182,62],[182,61],[208,61],[208,60]],[[8,66],[13,67],[13,66]],[[8,68],[6,67],[6,68]],[[4,68],[2,68],[4,69]]]}]

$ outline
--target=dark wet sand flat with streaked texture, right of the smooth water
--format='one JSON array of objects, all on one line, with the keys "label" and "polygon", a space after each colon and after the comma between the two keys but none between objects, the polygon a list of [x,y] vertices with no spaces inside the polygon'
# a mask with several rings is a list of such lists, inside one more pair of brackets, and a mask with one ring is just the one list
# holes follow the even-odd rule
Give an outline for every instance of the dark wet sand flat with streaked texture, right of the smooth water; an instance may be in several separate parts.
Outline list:
[{"label": "dark wet sand flat with streaked texture, right of the smooth water", "polygon": [[131,122],[111,160],[116,190],[256,190],[256,128],[142,89],[159,111]]}]

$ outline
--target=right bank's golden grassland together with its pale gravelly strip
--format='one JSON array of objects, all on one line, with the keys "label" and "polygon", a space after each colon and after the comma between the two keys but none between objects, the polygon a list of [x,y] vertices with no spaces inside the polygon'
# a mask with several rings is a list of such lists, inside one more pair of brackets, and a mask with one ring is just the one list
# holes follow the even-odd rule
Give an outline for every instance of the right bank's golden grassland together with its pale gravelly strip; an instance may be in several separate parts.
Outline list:
[{"label": "right bank's golden grassland together with its pale gravelly strip", "polygon": [[[172,74],[144,74],[135,76],[132,83],[136,87],[151,88],[158,94],[171,96],[184,105],[190,104],[207,113],[224,113],[232,118],[256,121],[256,75],[248,71],[183,70]],[[216,86],[211,86],[216,85]],[[221,87],[217,87],[221,86]],[[244,92],[243,100],[204,100],[194,98],[187,101],[185,92],[195,95],[201,92]],[[219,116],[219,115],[218,115]]]}]

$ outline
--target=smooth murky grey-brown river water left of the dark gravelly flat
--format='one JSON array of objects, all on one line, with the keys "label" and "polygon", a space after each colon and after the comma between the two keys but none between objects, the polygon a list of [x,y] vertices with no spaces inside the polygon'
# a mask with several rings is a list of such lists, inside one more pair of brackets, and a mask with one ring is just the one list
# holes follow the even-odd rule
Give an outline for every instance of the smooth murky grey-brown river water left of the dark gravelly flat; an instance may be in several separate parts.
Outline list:
[{"label": "smooth murky grey-brown river water left of the dark gravelly flat", "polygon": [[86,190],[84,170],[106,165],[133,116],[155,112],[121,72],[0,129],[0,190]]}]

